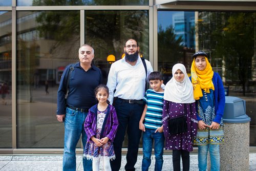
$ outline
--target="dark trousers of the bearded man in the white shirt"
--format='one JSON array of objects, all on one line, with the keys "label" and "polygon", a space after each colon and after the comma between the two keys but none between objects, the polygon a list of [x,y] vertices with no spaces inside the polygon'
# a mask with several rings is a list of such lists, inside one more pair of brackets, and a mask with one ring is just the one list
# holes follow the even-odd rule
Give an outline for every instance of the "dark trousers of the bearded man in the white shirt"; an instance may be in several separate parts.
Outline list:
[{"label": "dark trousers of the bearded man in the white shirt", "polygon": [[111,160],[112,171],[118,171],[121,167],[122,143],[127,127],[128,149],[126,154],[125,170],[135,170],[134,165],[137,162],[139,142],[141,138],[141,130],[139,129],[139,121],[144,110],[144,104],[123,102],[116,99],[114,102],[119,126],[114,139],[115,160]]}]

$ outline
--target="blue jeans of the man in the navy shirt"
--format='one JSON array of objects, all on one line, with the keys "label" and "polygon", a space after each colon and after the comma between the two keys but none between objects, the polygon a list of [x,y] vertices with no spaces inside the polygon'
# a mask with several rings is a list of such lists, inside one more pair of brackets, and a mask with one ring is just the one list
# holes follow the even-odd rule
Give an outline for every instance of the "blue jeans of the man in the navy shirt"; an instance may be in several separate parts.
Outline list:
[{"label": "blue jeans of the man in the navy shirt", "polygon": [[[63,171],[76,170],[76,145],[82,134],[83,150],[86,146],[87,135],[83,123],[87,112],[79,112],[70,108],[66,109]],[[92,170],[92,160],[82,159],[83,170]]]}]

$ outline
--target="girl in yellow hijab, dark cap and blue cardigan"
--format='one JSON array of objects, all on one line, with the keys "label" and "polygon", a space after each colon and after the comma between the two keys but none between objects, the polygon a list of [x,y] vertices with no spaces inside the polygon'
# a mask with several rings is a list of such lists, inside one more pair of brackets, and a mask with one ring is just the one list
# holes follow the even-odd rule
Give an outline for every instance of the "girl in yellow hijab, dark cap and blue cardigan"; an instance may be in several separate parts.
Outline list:
[{"label": "girl in yellow hijab, dark cap and blue cardigan", "polygon": [[199,170],[206,170],[209,151],[210,170],[220,170],[219,144],[224,142],[222,116],[225,106],[222,79],[218,73],[212,71],[205,52],[199,51],[192,57],[191,82],[198,119],[194,144],[198,145],[198,167]]}]

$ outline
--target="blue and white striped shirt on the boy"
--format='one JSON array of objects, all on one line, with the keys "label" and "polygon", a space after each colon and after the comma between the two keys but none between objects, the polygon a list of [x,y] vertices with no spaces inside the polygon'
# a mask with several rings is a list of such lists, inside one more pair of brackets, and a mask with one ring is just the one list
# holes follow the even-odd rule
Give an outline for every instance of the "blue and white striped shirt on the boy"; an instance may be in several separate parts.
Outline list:
[{"label": "blue and white striped shirt on the boy", "polygon": [[143,100],[147,104],[147,111],[144,125],[147,129],[156,130],[162,126],[163,94],[164,92],[156,92],[152,89],[148,89],[145,93]]}]

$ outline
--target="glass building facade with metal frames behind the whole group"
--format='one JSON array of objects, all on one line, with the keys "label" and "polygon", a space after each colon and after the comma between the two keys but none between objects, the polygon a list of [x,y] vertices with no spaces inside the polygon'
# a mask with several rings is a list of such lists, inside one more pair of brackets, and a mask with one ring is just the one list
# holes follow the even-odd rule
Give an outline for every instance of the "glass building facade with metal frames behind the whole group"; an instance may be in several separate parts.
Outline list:
[{"label": "glass building facade with metal frames behind the whole group", "polygon": [[165,83],[175,63],[190,73],[191,55],[206,51],[227,95],[246,100],[256,151],[255,7],[256,1],[0,0],[0,90],[7,87],[0,91],[0,154],[61,154],[56,101],[63,70],[79,60],[80,45],[90,44],[106,83],[128,38],[138,40]]}]

